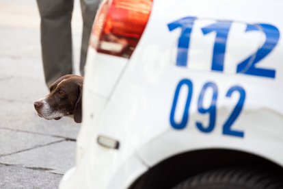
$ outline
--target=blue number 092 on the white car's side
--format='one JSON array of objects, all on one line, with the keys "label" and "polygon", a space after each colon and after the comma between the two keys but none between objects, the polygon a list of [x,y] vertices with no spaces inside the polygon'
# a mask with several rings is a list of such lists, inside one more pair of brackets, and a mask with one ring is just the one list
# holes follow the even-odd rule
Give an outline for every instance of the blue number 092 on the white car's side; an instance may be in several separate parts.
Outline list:
[{"label": "blue number 092 on the white car's side", "polygon": [[[181,117],[181,121],[179,123],[177,123],[175,121],[175,112],[176,112],[176,105],[178,103],[178,97],[180,95],[180,90],[182,87],[187,86],[188,88],[188,94],[187,94],[187,99],[186,99],[186,103],[185,103],[185,108],[183,111],[183,116]],[[211,103],[209,105],[208,108],[204,108],[203,105],[203,99],[206,95],[206,91],[208,90],[208,88],[212,89],[212,98],[211,98]],[[229,88],[226,97],[231,97],[234,92],[238,92],[239,93],[239,100],[237,102],[237,105],[234,107],[234,110],[232,110],[232,113],[230,114],[230,116],[227,118],[226,122],[223,125],[223,130],[222,130],[222,134],[224,135],[230,135],[230,136],[237,136],[237,137],[244,137],[244,131],[238,131],[235,129],[232,129],[232,125],[234,123],[234,121],[237,120],[237,118],[239,117],[239,115],[241,114],[241,111],[243,109],[243,105],[245,103],[245,90],[241,87],[241,86],[232,86],[231,88]],[[174,99],[173,99],[173,104],[172,104],[172,109],[170,112],[170,124],[174,129],[184,129],[187,126],[187,123],[189,123],[189,107],[191,104],[191,98],[192,98],[192,94],[193,94],[193,84],[191,82],[191,80],[189,79],[182,79],[177,87],[176,87],[176,91],[175,91],[175,95],[174,95]],[[200,114],[209,114],[209,121],[208,121],[208,125],[204,125],[203,123],[201,123],[200,121],[196,122],[196,127],[205,133],[210,133],[211,131],[213,131],[213,129],[215,128],[215,123],[217,120],[217,97],[218,97],[218,89],[217,89],[217,85],[213,82],[207,82],[206,84],[204,84],[199,98],[198,98],[198,112]]]}]

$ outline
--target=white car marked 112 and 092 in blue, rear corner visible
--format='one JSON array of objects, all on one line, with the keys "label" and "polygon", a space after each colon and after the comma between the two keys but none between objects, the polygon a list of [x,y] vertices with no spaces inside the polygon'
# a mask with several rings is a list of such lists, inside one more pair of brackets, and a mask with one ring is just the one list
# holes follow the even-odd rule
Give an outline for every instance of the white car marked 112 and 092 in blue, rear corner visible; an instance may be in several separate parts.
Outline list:
[{"label": "white car marked 112 and 092 in blue, rear corner visible", "polygon": [[59,188],[283,188],[283,1],[103,1]]}]

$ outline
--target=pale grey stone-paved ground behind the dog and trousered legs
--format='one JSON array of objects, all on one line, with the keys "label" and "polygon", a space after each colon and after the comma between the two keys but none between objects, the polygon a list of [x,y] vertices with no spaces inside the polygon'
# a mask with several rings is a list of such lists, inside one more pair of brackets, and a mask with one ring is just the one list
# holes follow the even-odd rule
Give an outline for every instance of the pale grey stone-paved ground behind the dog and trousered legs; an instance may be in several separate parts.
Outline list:
[{"label": "pale grey stone-paved ground behind the dog and trousered legs", "polygon": [[[79,1],[73,36],[78,70]],[[75,164],[80,125],[71,118],[46,121],[33,102],[47,95],[36,0],[0,0],[0,188],[57,188]]]}]

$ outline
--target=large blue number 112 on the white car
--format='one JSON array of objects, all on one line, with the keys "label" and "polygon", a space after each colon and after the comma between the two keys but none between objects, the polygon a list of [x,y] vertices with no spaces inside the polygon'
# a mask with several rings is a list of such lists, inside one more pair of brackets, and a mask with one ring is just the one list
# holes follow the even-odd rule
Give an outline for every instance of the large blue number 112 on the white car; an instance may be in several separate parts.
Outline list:
[{"label": "large blue number 112 on the white car", "polygon": [[[187,66],[188,64],[191,32],[196,19],[196,17],[189,16],[167,25],[170,31],[173,31],[176,28],[181,29],[180,37],[178,38],[178,52],[176,58],[177,66]],[[211,34],[212,32],[215,32],[216,34],[211,64],[212,71],[224,71],[226,43],[231,25],[231,21],[217,21],[216,23],[201,28],[202,34],[204,35]],[[247,24],[246,32],[248,31],[262,32],[265,35],[265,42],[258,51],[256,51],[256,53],[253,53],[242,62],[239,62],[237,65],[237,73],[275,78],[275,69],[261,68],[256,64],[258,64],[258,62],[260,62],[263,58],[267,57],[267,55],[269,55],[269,53],[271,53],[278,44],[280,39],[279,29],[274,25],[256,23],[254,25]]]}]

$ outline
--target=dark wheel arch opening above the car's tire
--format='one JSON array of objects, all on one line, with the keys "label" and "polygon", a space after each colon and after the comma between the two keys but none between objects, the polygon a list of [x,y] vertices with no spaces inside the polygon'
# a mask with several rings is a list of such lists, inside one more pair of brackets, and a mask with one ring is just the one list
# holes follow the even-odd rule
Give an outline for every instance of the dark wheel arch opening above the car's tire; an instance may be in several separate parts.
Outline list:
[{"label": "dark wheel arch opening above the car's tire", "polygon": [[262,171],[283,175],[282,166],[256,154],[231,149],[202,149],[180,153],[159,162],[129,188],[172,188],[198,173],[227,167],[260,168]]}]

